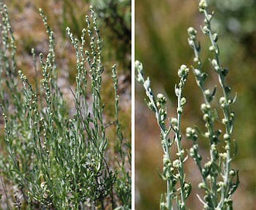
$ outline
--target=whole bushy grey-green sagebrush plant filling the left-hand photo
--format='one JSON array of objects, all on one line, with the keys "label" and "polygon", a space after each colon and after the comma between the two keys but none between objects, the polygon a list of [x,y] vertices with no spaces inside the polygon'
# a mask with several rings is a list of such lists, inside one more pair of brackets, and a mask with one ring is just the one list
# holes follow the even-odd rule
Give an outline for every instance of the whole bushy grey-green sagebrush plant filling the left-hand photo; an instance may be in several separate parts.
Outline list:
[{"label": "whole bushy grey-green sagebrush plant filling the left-hand photo", "polygon": [[[0,5],[0,12],[0,101],[5,121],[0,166],[2,186],[14,187],[5,190],[6,206],[12,208],[15,203],[19,209],[130,209],[131,147],[118,120],[117,70],[114,65],[115,119],[108,123],[101,100],[102,39],[93,8],[86,16],[87,28],[80,40],[67,28],[77,56],[76,88],[70,88],[72,111],[57,83],[56,42],[43,10],[39,12],[49,35],[49,53],[46,58],[39,55],[39,71],[32,49],[34,81],[16,66],[15,38],[6,5]],[[116,139],[111,140],[115,158],[109,157],[108,124],[116,126]]]}]

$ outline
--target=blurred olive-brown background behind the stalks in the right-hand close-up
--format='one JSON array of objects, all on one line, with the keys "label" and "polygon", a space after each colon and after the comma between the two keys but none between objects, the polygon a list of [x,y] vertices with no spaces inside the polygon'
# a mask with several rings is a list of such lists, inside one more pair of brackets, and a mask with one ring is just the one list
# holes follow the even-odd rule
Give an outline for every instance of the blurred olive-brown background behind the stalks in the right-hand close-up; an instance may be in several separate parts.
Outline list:
[{"label": "blurred olive-brown background behind the stalks in the right-hand close-up", "polygon": [[[233,162],[239,169],[241,185],[234,194],[234,209],[256,209],[256,1],[216,0],[208,1],[215,12],[213,29],[219,35],[220,58],[230,69],[227,83],[237,93],[237,102],[232,107],[236,113],[234,138],[238,155]],[[203,48],[202,59],[209,56],[209,40],[202,35],[201,14],[198,1],[193,0],[145,0],[135,1],[135,59],[140,60],[146,76],[150,76],[155,94],[166,93],[169,114],[176,107],[174,85],[178,83],[177,70],[181,64],[193,64],[193,50],[187,43],[186,29],[197,29]],[[210,73],[208,60],[204,62],[209,73],[208,87],[218,83]],[[183,115],[184,127],[198,125],[202,130],[203,120],[200,103],[203,102],[199,88],[191,72],[185,93],[188,103]],[[159,199],[166,191],[165,182],[159,177],[162,170],[162,148],[154,114],[145,106],[142,86],[135,86],[135,205],[136,209],[159,209]],[[217,97],[218,98],[218,97]],[[205,146],[207,142],[200,138]],[[185,141],[186,142],[186,141]],[[187,143],[185,143],[187,144]],[[189,144],[189,143],[188,143]],[[189,145],[188,145],[189,146]],[[193,161],[186,163],[187,179],[199,183],[200,174]],[[191,209],[202,209],[196,198],[196,185],[189,198]]]}]

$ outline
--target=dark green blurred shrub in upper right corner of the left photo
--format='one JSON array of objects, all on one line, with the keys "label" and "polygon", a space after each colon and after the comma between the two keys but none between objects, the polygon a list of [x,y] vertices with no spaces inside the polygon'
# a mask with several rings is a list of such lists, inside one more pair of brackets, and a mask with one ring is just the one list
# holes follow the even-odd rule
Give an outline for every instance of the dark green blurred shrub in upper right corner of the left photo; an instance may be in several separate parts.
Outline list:
[{"label": "dark green blurred shrub in upper right corner of the left photo", "polygon": [[131,69],[131,1],[91,0],[91,4],[103,20],[102,29],[108,30],[114,56],[125,69]]}]

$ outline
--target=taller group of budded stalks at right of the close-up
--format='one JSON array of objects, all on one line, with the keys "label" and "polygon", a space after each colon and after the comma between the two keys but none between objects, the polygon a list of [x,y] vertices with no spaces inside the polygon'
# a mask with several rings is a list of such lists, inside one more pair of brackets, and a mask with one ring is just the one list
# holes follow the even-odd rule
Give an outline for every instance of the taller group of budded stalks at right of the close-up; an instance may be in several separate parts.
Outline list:
[{"label": "taller group of budded stalks at right of the close-up", "polygon": [[[211,107],[211,102],[217,88],[215,87],[211,92],[205,87],[207,73],[203,72],[203,63],[200,60],[200,45],[196,42],[197,32],[192,27],[188,29],[188,33],[189,45],[193,48],[195,54],[194,62],[196,63],[196,68],[193,68],[193,73],[196,77],[196,83],[203,93],[204,103],[201,105],[201,110],[203,112],[203,120],[206,123],[205,126],[207,127],[205,137],[210,140],[210,161],[204,164],[204,167],[201,163],[202,158],[199,154],[196,131],[188,127],[186,135],[193,140],[190,156],[196,161],[203,179],[199,187],[203,188],[206,193],[203,199],[200,198],[204,209],[233,209],[233,202],[230,197],[239,185],[239,177],[238,171],[230,168],[230,162],[233,159],[231,157],[231,135],[234,127],[234,112],[230,111],[230,105],[234,103],[236,97],[233,99],[230,97],[230,86],[227,86],[225,83],[228,70],[220,63],[220,49],[217,43],[218,35],[211,29],[213,12],[207,12],[207,2],[204,0],[200,1],[199,11],[204,15],[205,25],[202,27],[203,33],[210,38],[211,46],[209,50],[213,52],[213,59],[210,59],[211,65],[219,77],[220,86],[224,94],[223,97],[220,97],[220,107],[224,113],[222,123],[225,127],[225,134],[222,139],[225,143],[225,152],[220,153],[217,148],[217,144],[221,142],[221,130],[215,128],[217,111]],[[234,147],[236,150],[236,144],[234,144]],[[235,177],[236,181],[234,181]]]}]

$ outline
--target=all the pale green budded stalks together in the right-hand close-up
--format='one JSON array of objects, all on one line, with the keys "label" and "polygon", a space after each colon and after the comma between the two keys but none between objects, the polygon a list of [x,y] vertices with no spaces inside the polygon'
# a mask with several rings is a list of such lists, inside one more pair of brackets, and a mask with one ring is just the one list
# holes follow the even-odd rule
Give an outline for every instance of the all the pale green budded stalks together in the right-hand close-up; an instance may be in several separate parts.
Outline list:
[{"label": "all the pale green budded stalks together in the right-hand close-up", "polygon": [[[206,87],[207,73],[204,71],[203,63],[200,59],[200,43],[196,41],[196,29],[189,27],[189,46],[194,51],[194,66],[191,66],[197,85],[202,90],[204,103],[200,109],[203,112],[203,121],[205,122],[206,132],[200,132],[195,127],[186,128],[186,138],[193,141],[193,147],[188,151],[189,156],[195,161],[198,170],[200,171],[202,182],[198,185],[203,190],[203,197],[197,195],[200,202],[203,204],[203,209],[209,210],[224,210],[233,209],[233,201],[231,196],[236,191],[239,185],[238,171],[231,168],[231,161],[237,154],[237,145],[232,138],[234,127],[234,112],[230,110],[230,105],[235,102],[236,97],[230,94],[230,86],[227,86],[225,81],[228,69],[224,68],[220,62],[220,49],[218,46],[217,32],[213,32],[211,28],[211,20],[213,12],[207,11],[207,2],[201,0],[199,3],[199,11],[203,13],[204,25],[201,27],[203,34],[210,39],[210,52],[213,57],[210,57],[212,69],[217,73],[220,86],[219,99],[220,109],[222,110],[220,126],[220,113],[217,113],[217,108],[213,105],[214,97],[217,95],[217,86],[211,91]],[[181,133],[181,122],[183,106],[186,103],[186,98],[183,97],[183,88],[189,73],[189,68],[182,65],[179,68],[179,84],[175,87],[177,97],[176,117],[171,117],[169,120],[166,110],[166,97],[159,93],[156,97],[152,92],[149,78],[145,79],[142,63],[135,62],[135,69],[138,71],[137,80],[145,89],[147,95],[147,105],[155,113],[155,118],[161,130],[161,143],[163,149],[163,170],[162,179],[166,181],[166,194],[162,195],[160,201],[160,209],[189,209],[186,204],[187,198],[193,190],[193,184],[187,181],[186,171],[186,148],[184,148],[183,137]],[[191,108],[191,107],[190,107]],[[219,109],[219,110],[220,110]],[[223,129],[224,131],[222,132]],[[171,137],[172,132],[174,137]],[[204,133],[204,134],[203,134]],[[224,134],[222,134],[224,133]],[[201,135],[200,135],[201,134]],[[206,137],[209,142],[209,156],[202,157],[200,154],[199,137]],[[176,143],[176,153],[173,153],[172,147]]]}]

